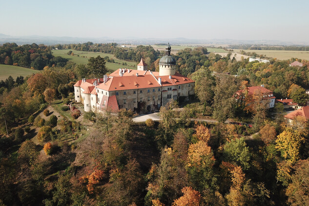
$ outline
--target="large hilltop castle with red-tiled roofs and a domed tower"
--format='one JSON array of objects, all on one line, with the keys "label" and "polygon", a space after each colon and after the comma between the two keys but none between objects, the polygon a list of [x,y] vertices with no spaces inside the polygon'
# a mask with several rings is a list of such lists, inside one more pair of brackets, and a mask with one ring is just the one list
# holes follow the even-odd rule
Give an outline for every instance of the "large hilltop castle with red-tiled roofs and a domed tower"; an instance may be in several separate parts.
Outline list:
[{"label": "large hilltop castle with red-tiled roofs and a domed tower", "polygon": [[75,101],[84,111],[155,111],[170,100],[188,99],[194,94],[194,81],[176,72],[176,60],[166,47],[159,72],[147,71],[143,58],[137,70],[120,68],[99,79],[82,79],[74,84]]}]

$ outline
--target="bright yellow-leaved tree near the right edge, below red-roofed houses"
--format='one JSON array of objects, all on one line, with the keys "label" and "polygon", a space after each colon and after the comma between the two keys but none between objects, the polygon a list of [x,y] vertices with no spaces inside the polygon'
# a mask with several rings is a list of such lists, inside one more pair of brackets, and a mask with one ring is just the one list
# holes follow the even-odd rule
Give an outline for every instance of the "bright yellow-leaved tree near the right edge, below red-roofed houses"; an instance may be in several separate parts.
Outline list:
[{"label": "bright yellow-leaved tree near the right edge, below red-roofed houses", "polygon": [[299,158],[299,148],[304,141],[302,135],[287,128],[277,136],[275,147],[281,152],[283,158],[294,163]]}]

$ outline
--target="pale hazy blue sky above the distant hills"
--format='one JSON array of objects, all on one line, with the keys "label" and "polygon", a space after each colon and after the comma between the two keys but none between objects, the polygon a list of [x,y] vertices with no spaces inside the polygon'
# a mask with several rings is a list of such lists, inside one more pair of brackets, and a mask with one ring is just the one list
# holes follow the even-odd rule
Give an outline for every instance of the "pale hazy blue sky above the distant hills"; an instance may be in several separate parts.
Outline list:
[{"label": "pale hazy blue sky above the distant hills", "polygon": [[309,0],[0,0],[12,36],[309,43]]}]

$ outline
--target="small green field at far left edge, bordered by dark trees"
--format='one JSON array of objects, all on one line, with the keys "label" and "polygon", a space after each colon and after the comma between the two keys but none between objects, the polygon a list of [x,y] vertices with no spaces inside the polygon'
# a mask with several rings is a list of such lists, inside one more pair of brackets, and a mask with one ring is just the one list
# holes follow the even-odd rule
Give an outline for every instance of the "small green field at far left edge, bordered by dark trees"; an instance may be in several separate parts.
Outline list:
[{"label": "small green field at far left edge, bordered by dark trees", "polygon": [[39,70],[28,69],[20,66],[0,64],[0,80],[3,81],[7,79],[10,75],[15,80],[18,76],[23,76],[25,78],[26,76],[37,72],[39,72]]}]

